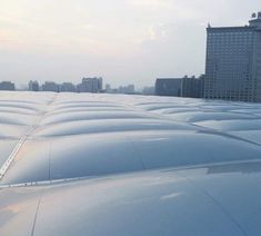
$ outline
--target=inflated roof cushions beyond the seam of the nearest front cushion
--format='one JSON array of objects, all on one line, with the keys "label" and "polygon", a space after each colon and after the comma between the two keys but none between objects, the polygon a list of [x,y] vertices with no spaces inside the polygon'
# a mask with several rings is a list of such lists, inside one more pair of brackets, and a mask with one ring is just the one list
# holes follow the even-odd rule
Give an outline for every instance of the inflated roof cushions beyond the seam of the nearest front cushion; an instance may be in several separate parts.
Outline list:
[{"label": "inflated roof cushions beyond the seam of the nearest front cushion", "polygon": [[257,159],[260,109],[189,98],[1,92],[0,183]]}]

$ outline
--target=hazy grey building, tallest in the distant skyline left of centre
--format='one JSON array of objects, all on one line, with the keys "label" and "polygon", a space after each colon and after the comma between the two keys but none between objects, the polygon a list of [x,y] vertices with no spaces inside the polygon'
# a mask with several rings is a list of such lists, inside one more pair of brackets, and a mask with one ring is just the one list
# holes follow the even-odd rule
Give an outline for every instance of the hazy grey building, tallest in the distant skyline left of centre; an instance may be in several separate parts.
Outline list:
[{"label": "hazy grey building, tallest in the distant skyline left of centre", "polygon": [[82,78],[82,82],[77,86],[79,92],[101,92],[102,91],[102,78]]}]

